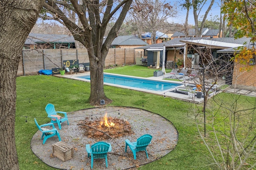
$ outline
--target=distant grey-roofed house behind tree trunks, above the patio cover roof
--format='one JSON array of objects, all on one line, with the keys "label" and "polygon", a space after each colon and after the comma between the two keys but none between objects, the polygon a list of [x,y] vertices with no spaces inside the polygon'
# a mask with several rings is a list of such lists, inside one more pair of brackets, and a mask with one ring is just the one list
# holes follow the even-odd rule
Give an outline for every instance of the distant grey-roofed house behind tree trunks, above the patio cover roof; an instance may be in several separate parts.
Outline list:
[{"label": "distant grey-roofed house behind tree trunks, above the patio cover roof", "polygon": [[[221,37],[222,34],[220,34]],[[208,29],[208,28],[203,28],[202,33],[200,34],[200,37],[209,37],[209,38],[218,38],[219,36],[219,30],[218,29]],[[181,31],[176,31],[171,39],[174,38],[185,38],[186,34],[184,32]],[[188,30],[188,37],[196,37],[196,31],[195,29],[189,29]]]}]

